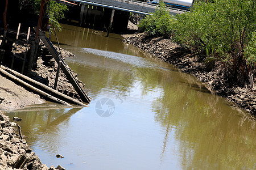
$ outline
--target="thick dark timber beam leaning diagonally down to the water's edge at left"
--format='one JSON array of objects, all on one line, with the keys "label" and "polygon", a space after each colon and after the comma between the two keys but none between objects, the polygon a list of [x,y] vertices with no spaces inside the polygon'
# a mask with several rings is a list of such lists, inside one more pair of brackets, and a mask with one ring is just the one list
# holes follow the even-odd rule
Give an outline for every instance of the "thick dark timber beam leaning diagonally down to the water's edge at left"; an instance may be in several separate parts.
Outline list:
[{"label": "thick dark timber beam leaning diagonally down to the water's edge at left", "polygon": [[57,63],[59,61],[62,62],[60,69],[63,71],[63,73],[67,76],[69,82],[72,84],[72,86],[75,88],[77,94],[81,97],[81,100],[90,103],[90,98],[86,95],[84,90],[82,90],[82,87],[79,85],[79,82],[77,81],[76,77],[71,73],[71,69],[67,66],[67,64],[64,62],[64,60],[59,56],[59,53],[54,48],[53,44],[49,39],[44,35],[44,33],[39,30],[39,37],[44,42],[44,45],[46,45],[46,48],[48,51],[52,54],[52,57],[55,59]]}]

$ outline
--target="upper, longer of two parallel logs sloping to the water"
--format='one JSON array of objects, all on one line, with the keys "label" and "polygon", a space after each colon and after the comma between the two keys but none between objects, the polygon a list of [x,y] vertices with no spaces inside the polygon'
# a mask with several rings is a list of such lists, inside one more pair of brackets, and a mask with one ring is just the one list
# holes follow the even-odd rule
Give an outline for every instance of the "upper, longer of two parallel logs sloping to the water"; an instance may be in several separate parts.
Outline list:
[{"label": "upper, longer of two parallel logs sloping to the water", "polygon": [[30,84],[31,86],[34,86],[34,87],[46,92],[49,95],[55,96],[58,99],[61,99],[63,101],[71,103],[71,104],[79,105],[79,106],[82,106],[82,107],[87,107],[86,104],[81,103],[80,101],[77,101],[76,99],[73,99],[72,97],[61,94],[61,92],[53,90],[52,88],[50,88],[50,87],[48,87],[48,86],[46,86],[42,83],[37,82],[36,80],[33,80],[33,79],[29,78],[28,76],[20,74],[17,71],[11,70],[11,69],[9,69],[7,67],[4,67],[4,66],[0,66],[0,68],[7,71],[8,73],[16,76],[17,78],[22,79],[24,82]]}]

